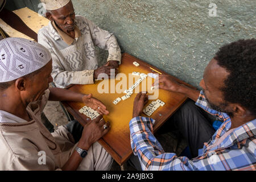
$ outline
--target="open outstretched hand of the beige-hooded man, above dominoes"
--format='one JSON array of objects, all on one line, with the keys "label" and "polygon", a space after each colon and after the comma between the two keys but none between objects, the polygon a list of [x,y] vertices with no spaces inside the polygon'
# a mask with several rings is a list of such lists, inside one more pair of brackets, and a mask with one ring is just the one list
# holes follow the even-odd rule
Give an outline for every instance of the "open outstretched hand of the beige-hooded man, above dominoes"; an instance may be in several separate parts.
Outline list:
[{"label": "open outstretched hand of the beige-hooded man, above dominoes", "polygon": [[97,98],[92,97],[92,94],[83,96],[82,102],[84,102],[86,106],[89,106],[94,110],[97,110],[100,114],[109,114],[109,111],[106,110],[106,106],[101,101],[97,100]]}]

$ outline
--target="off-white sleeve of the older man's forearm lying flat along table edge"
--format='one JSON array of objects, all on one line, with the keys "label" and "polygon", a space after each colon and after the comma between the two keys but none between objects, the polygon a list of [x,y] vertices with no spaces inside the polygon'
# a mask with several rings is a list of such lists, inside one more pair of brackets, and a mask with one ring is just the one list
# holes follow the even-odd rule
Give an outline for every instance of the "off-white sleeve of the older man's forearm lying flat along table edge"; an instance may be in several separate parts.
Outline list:
[{"label": "off-white sleeve of the older man's forearm lying flat along table edge", "polygon": [[84,70],[84,71],[65,71],[61,60],[56,55],[53,50],[53,43],[46,38],[42,31],[38,32],[38,43],[42,44],[44,47],[48,48],[52,56],[52,73],[53,82],[55,82],[57,87],[64,88],[65,86],[71,84],[93,84],[93,73],[94,70]]}]

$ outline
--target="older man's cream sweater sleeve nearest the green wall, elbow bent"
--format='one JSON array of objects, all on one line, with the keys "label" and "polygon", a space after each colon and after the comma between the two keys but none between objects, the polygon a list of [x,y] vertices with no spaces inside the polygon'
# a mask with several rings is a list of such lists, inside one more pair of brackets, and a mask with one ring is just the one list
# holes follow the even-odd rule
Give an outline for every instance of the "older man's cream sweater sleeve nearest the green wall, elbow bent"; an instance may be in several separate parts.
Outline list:
[{"label": "older man's cream sweater sleeve nearest the green wall, elbow bent", "polygon": [[121,49],[118,46],[117,39],[113,34],[110,34],[106,30],[102,30],[96,26],[90,20],[84,18],[89,24],[92,40],[95,46],[109,51],[109,57],[107,61],[115,60],[121,64]]}]

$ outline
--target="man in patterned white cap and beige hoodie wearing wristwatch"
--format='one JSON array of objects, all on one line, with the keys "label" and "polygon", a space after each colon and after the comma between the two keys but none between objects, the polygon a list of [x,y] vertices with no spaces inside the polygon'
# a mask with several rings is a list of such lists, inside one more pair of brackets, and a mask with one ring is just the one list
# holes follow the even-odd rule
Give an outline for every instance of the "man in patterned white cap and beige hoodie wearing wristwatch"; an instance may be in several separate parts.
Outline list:
[{"label": "man in patterned white cap and beige hoodie wearing wristwatch", "polygon": [[51,54],[42,45],[0,41],[0,170],[109,170],[113,159],[96,142],[110,129],[102,115],[85,125],[80,138],[69,124],[49,133],[41,122],[48,99],[84,102],[109,113],[92,94],[48,88],[51,70]]}]

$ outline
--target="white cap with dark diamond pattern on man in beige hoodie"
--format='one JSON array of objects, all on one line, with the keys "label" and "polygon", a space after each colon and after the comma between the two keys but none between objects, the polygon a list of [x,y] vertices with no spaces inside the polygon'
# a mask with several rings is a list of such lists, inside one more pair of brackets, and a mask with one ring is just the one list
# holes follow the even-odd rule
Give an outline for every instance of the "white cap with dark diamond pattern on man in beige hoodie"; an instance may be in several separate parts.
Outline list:
[{"label": "white cap with dark diamond pattern on man in beige hoodie", "polygon": [[13,81],[44,67],[51,53],[39,43],[23,38],[0,41],[0,82]]}]

